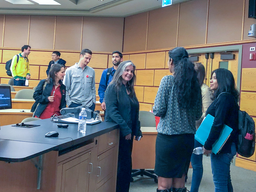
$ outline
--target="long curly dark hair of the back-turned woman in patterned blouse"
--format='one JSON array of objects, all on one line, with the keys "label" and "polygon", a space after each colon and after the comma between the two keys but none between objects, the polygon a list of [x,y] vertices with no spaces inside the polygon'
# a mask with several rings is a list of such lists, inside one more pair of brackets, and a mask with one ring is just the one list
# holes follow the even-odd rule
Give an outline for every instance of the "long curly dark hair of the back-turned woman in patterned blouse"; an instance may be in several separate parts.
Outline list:
[{"label": "long curly dark hair of the back-turned woman in patterned blouse", "polygon": [[173,76],[178,102],[183,108],[192,108],[200,98],[201,88],[198,83],[195,65],[188,59],[188,52],[183,47],[176,47],[168,52],[169,60],[174,64]]}]

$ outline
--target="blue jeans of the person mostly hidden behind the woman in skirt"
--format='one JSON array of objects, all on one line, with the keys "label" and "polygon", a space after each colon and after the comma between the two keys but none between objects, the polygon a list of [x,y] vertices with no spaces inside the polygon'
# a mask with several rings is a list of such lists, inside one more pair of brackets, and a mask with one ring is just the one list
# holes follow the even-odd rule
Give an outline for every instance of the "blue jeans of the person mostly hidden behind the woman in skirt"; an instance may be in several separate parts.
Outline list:
[{"label": "blue jeans of the person mostly hidden behind the woman in skirt", "polygon": [[[195,140],[194,148],[203,147],[201,143]],[[191,165],[193,167],[192,182],[190,192],[198,192],[202,177],[203,177],[203,154],[196,155],[192,153]]]}]

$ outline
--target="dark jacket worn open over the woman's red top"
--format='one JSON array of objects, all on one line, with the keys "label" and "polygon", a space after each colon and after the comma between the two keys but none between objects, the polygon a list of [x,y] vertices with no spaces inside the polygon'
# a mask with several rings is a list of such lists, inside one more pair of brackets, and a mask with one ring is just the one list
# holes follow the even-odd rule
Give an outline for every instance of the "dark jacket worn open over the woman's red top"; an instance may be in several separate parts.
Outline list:
[{"label": "dark jacket worn open over the woman's red top", "polygon": [[[46,106],[49,103],[48,97],[51,96],[52,93],[52,87],[53,85],[53,79],[51,78],[50,84],[46,84],[44,91],[44,83],[46,79],[43,79],[39,82],[39,84],[36,87],[36,90],[34,92],[33,98],[36,100],[36,102],[33,104],[31,108],[31,112],[35,112],[35,116],[40,117],[41,113],[44,111]],[[61,101],[60,101],[60,107],[59,109],[66,107],[66,86],[62,83],[62,81],[59,81],[60,83],[60,92],[61,92]],[[37,104],[39,103],[38,107],[36,108]]]}]

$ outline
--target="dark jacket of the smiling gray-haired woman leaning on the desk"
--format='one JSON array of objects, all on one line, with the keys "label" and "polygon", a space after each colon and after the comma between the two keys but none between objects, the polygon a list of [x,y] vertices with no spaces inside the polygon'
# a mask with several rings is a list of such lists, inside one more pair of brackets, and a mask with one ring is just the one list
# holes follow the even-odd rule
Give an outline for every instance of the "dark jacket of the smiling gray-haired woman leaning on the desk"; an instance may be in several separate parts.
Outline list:
[{"label": "dark jacket of the smiling gray-haired woman leaning on the desk", "polygon": [[[131,105],[130,98],[126,92],[124,84],[117,93],[116,84],[109,84],[105,92],[106,116],[105,121],[115,122],[119,125],[121,136],[126,136],[130,133],[135,136],[142,136],[140,131],[139,109],[136,114],[136,119],[131,120]],[[118,99],[117,99],[118,95]],[[135,96],[136,102],[138,102]],[[136,121],[136,128],[132,129],[132,121]],[[134,132],[132,132],[134,130]]]}]

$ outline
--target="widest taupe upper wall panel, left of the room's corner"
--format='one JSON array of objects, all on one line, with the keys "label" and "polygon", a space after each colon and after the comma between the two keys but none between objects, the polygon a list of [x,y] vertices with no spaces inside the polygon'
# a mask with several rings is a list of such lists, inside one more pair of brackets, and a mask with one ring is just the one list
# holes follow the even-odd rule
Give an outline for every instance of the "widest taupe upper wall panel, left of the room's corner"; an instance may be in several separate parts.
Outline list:
[{"label": "widest taupe upper wall panel, left of the room's corner", "polygon": [[84,17],[82,47],[92,51],[122,51],[123,30],[124,18]]}]

